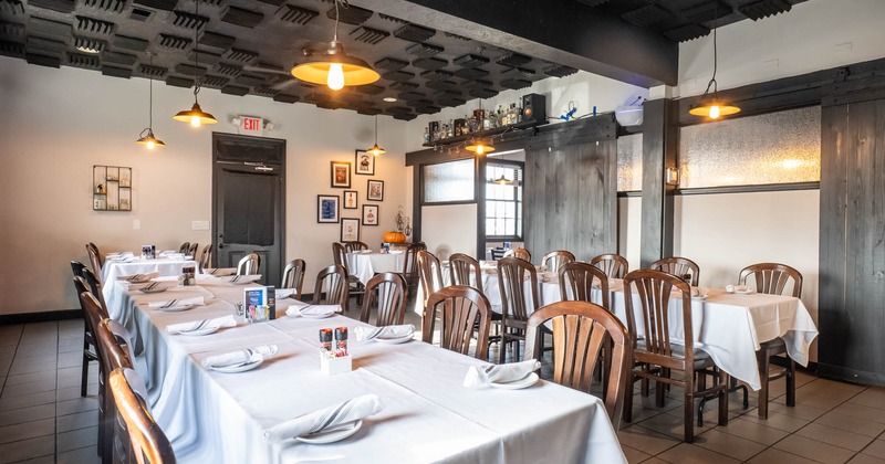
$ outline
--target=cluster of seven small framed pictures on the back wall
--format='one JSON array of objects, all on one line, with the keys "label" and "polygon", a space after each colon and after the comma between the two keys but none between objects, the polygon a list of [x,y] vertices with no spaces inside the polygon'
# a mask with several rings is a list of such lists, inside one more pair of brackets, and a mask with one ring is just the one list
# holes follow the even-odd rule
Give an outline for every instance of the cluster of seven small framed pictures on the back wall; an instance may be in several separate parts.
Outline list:
[{"label": "cluster of seven small framed pictures on the back wall", "polygon": [[[331,161],[330,186],[334,189],[351,189],[352,177],[374,176],[375,157],[365,150],[356,150],[354,162]],[[384,181],[378,179],[366,180],[366,201],[384,201]],[[341,241],[350,242],[360,240],[360,226],[376,226],[379,223],[381,205],[364,203],[361,218],[342,218],[342,210],[360,210],[360,191],[344,190],[339,194],[316,196],[316,222],[341,223]]]}]

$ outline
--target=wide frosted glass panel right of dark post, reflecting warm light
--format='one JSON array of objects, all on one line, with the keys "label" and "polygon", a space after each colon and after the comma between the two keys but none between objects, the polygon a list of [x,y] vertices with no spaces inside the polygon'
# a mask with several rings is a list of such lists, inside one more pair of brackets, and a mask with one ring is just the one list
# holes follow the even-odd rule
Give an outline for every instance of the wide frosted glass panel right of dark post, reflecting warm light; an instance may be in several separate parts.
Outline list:
[{"label": "wide frosted glass panel right of dark post, reflecting warm light", "polygon": [[820,181],[821,107],[683,127],[679,145],[684,189]]}]

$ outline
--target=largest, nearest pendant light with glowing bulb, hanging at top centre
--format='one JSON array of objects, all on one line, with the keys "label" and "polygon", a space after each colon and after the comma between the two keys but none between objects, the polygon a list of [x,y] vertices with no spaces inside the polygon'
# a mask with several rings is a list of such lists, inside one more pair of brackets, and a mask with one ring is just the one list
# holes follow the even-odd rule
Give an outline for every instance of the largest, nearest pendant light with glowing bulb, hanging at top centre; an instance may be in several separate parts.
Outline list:
[{"label": "largest, nearest pendant light with glowing bulb, hanging at top centre", "polygon": [[345,8],[350,4],[347,0],[332,1],[335,2],[335,33],[329,49],[317,56],[312,56],[312,51],[304,50],[306,59],[292,67],[292,75],[311,84],[325,84],[333,91],[340,91],[344,86],[372,84],[381,75],[365,61],[345,53],[344,45],[339,42],[339,3],[343,3]]}]

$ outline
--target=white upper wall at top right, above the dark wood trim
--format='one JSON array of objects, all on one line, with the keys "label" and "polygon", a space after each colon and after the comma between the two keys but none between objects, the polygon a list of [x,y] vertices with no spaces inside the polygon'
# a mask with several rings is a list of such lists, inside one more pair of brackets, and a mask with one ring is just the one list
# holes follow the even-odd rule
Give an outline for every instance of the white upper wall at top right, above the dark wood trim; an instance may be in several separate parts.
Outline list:
[{"label": "white upper wall at top right, above the dark wood trim", "polygon": [[[785,14],[719,28],[720,89],[885,56],[885,1],[809,0]],[[712,76],[712,34],[679,44],[675,97],[699,95]]]}]

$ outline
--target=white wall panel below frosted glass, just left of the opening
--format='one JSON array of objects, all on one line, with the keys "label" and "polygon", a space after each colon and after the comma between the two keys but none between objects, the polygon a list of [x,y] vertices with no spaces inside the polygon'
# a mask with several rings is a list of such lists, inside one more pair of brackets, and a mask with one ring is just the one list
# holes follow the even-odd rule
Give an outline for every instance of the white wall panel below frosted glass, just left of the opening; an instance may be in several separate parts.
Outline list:
[{"label": "white wall panel below frosted glass, just left of the opening", "polygon": [[476,256],[476,203],[421,207],[421,241],[431,253],[446,246],[449,253]]}]

